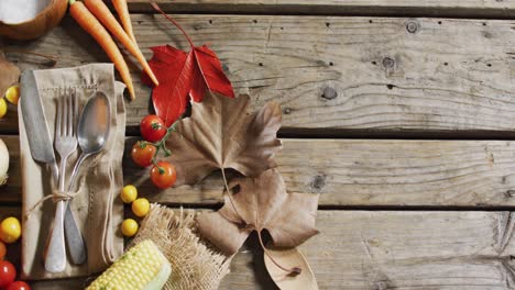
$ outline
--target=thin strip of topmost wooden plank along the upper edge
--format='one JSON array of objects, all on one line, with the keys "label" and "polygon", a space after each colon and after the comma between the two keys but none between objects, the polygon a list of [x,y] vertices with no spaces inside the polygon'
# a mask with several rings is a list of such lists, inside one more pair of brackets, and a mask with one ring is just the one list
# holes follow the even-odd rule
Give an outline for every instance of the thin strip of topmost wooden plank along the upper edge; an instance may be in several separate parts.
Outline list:
[{"label": "thin strip of topmost wooden plank along the upper edge", "polygon": [[171,13],[513,18],[515,12],[515,3],[502,0],[129,0],[130,10],[151,12],[150,2]]}]

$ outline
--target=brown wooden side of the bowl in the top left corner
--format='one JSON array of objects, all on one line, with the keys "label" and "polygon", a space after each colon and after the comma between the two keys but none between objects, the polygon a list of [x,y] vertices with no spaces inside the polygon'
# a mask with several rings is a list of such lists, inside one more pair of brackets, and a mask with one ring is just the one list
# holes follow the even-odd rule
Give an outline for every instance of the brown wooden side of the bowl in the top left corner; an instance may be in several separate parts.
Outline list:
[{"label": "brown wooden side of the bowl in the top left corner", "polygon": [[37,15],[29,21],[10,24],[0,21],[0,35],[14,40],[34,40],[59,24],[68,0],[52,0]]}]

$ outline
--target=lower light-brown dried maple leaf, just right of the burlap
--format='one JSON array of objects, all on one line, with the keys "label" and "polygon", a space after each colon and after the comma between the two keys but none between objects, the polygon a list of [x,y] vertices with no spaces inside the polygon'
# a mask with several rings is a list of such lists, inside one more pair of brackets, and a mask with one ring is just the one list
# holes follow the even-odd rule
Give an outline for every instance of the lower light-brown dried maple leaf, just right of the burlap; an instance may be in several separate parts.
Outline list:
[{"label": "lower light-brown dried maple leaf, just right of the burlap", "polygon": [[234,204],[226,196],[226,204],[218,212],[197,219],[199,233],[224,254],[234,254],[252,231],[258,232],[262,243],[261,231],[266,228],[277,247],[298,246],[318,233],[318,194],[286,193],[284,180],[275,169],[256,178],[235,178],[229,187],[240,189],[232,194]]}]

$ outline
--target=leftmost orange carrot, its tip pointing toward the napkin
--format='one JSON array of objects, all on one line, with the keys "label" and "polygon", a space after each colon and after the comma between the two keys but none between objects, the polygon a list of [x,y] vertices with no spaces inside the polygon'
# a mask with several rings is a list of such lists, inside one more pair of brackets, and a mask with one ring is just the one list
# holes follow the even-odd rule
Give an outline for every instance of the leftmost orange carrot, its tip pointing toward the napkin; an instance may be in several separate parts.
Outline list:
[{"label": "leftmost orange carrot, its tip pointing toward the napkin", "polygon": [[134,99],[134,87],[132,86],[129,67],[127,66],[125,59],[123,59],[123,56],[111,35],[109,35],[102,24],[98,22],[98,20],[89,12],[83,2],[69,0],[69,14],[75,19],[75,21],[77,21],[80,27],[83,27],[83,30],[91,35],[95,41],[97,41],[97,43],[102,47],[111,62],[114,64],[118,72],[120,72],[123,82],[125,82],[131,99]]}]

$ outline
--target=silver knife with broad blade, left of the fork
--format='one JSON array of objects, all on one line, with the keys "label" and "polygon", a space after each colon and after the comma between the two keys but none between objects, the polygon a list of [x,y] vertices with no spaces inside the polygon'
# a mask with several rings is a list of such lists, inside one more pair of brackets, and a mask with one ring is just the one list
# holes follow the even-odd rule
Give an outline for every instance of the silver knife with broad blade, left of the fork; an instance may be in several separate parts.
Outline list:
[{"label": "silver knife with broad blade, left of the fork", "polygon": [[[55,182],[58,180],[58,167],[55,160],[55,154],[50,136],[48,126],[45,122],[43,105],[37,92],[37,83],[34,78],[34,71],[25,70],[21,76],[21,99],[20,105],[23,112],[23,124],[29,140],[32,158],[43,164],[50,164],[52,176]],[[80,231],[68,207],[65,213],[65,234],[66,243],[74,264],[83,264],[86,260],[86,246],[84,244]],[[63,255],[66,257],[66,255]],[[66,260],[59,261],[66,264]],[[61,268],[59,266],[58,268]]]}]

